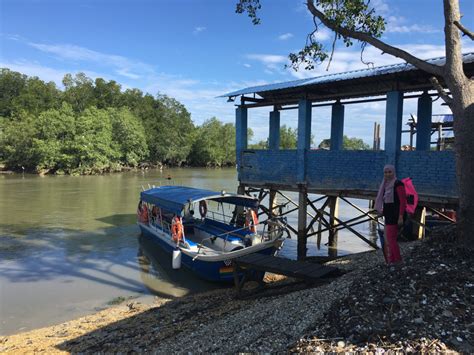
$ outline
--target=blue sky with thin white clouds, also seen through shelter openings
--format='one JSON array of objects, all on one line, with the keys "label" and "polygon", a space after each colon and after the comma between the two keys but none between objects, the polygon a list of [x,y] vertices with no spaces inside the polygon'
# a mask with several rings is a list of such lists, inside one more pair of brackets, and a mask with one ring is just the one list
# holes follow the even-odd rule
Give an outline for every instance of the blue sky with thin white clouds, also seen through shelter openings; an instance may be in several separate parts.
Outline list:
[{"label": "blue sky with thin white clouds, also seen through shelter openings", "polygon": [[[0,67],[54,81],[67,73],[115,80],[122,89],[166,94],[183,103],[193,122],[235,121],[235,106],[219,95],[254,85],[327,75],[367,66],[360,46],[338,44],[326,70],[285,69],[288,54],[304,46],[313,19],[303,0],[261,0],[262,23],[235,13],[237,0],[0,0]],[[444,56],[442,0],[372,0],[387,21],[382,40],[422,58]],[[474,29],[474,0],[461,0],[462,22]],[[330,48],[331,32],[317,38]],[[463,52],[474,52],[463,39]],[[400,59],[367,47],[375,66]],[[437,100],[434,114],[449,113]],[[249,110],[253,142],[268,137],[270,108]],[[404,102],[404,123],[416,100]],[[344,132],[371,144],[374,122],[384,124],[385,103],[348,105]],[[281,124],[296,127],[297,112]],[[313,109],[317,145],[329,138],[330,108]],[[406,143],[407,138],[403,141]],[[382,139],[383,141],[383,139]]]}]

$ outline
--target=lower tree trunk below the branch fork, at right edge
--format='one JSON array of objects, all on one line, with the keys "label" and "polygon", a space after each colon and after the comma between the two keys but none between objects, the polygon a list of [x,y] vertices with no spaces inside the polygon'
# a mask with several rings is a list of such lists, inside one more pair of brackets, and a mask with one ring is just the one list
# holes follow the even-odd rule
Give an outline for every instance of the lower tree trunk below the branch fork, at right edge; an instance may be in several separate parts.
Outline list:
[{"label": "lower tree trunk below the branch fork, at right edge", "polygon": [[474,251],[474,83],[468,81],[460,89],[453,95],[451,107],[459,194],[458,240]]}]

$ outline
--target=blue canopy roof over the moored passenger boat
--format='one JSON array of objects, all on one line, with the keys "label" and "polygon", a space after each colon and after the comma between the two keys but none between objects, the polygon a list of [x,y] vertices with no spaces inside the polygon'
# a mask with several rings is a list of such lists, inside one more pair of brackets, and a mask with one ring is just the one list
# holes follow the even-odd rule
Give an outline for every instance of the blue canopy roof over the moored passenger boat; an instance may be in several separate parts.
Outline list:
[{"label": "blue canopy roof over the moored passenger boat", "polygon": [[186,186],[154,187],[142,191],[140,197],[142,201],[176,214],[180,214],[185,205],[202,200],[213,200],[250,208],[258,207],[258,200],[250,196],[229,194],[226,192],[221,193]]}]

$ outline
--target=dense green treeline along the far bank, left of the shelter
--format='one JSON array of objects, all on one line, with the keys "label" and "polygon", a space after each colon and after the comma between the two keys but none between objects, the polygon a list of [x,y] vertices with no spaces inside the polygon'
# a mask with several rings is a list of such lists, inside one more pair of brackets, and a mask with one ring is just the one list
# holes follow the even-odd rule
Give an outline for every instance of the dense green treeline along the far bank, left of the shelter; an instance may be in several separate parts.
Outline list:
[{"label": "dense green treeline along the far bank, left of the shelter", "polygon": [[195,126],[177,100],[122,91],[85,74],[53,82],[0,69],[0,163],[38,173],[95,174],[124,167],[235,164],[235,129]]}]

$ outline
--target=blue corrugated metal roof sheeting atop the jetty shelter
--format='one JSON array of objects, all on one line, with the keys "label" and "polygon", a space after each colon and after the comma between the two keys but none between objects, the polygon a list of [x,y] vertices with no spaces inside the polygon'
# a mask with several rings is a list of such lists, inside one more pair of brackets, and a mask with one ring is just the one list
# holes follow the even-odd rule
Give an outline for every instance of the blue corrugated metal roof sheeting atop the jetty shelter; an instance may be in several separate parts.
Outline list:
[{"label": "blue corrugated metal roof sheeting atop the jetty shelter", "polygon": [[[463,61],[464,63],[474,62],[474,53],[471,52],[471,53],[463,54]],[[446,57],[428,59],[427,62],[430,64],[441,66],[441,65],[444,65],[444,63],[446,62]],[[251,86],[242,90],[232,91],[218,97],[234,97],[234,96],[254,94],[254,93],[258,94],[261,92],[297,88],[297,87],[308,86],[308,85],[365,78],[365,77],[371,77],[371,76],[377,76],[377,75],[392,74],[392,73],[397,73],[397,72],[407,72],[410,70],[418,70],[418,68],[408,63],[385,65],[385,66],[371,68],[371,69],[353,70],[353,71],[349,71],[345,73],[328,74],[328,75],[322,75],[322,76],[317,76],[317,77],[308,78],[308,79],[286,81],[282,83],[268,84],[268,85]]]}]

